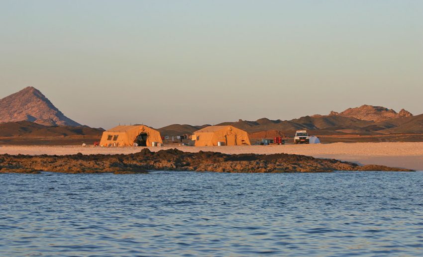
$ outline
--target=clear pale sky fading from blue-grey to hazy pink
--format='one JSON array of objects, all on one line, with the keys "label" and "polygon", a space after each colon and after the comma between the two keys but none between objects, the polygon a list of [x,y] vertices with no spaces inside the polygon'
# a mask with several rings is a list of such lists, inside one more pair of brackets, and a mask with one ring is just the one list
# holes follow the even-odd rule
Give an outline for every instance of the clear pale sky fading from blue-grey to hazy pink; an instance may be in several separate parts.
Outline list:
[{"label": "clear pale sky fading from blue-grey to hazy pink", "polygon": [[423,113],[421,0],[0,0],[0,98],[92,127]]}]

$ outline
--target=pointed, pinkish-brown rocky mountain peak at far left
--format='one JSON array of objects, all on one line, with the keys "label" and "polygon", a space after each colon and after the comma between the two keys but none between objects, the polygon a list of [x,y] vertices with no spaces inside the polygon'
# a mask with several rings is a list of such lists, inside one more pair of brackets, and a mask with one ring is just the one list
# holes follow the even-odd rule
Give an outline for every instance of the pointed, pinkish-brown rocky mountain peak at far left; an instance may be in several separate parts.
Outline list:
[{"label": "pointed, pinkish-brown rocky mountain peak at far left", "polygon": [[47,126],[81,126],[32,86],[0,99],[0,123],[30,121]]}]

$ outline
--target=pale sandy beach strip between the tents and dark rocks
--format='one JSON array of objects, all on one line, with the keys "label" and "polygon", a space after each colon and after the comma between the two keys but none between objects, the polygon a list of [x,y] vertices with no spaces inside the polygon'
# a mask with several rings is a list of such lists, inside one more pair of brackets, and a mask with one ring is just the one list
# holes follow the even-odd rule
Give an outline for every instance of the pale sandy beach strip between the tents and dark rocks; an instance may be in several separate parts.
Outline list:
[{"label": "pale sandy beach strip between the tents and dark rocks", "polygon": [[[359,164],[377,164],[423,171],[423,142],[410,143],[333,143],[280,146],[223,146],[223,147],[150,147],[151,151],[178,148],[185,152],[213,151],[225,154],[299,154],[316,158],[333,158]],[[67,154],[130,154],[140,147],[79,147],[79,146],[1,146],[0,154],[67,155]]]}]

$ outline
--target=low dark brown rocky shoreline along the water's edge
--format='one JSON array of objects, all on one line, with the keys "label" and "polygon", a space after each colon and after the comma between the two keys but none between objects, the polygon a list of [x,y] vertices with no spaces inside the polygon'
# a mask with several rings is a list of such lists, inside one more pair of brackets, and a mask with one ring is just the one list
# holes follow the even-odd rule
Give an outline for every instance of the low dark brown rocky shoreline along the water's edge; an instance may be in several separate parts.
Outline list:
[{"label": "low dark brown rocky shoreline along the water's edge", "polygon": [[128,155],[0,155],[0,173],[147,173],[148,171],[213,172],[331,172],[331,171],[412,171],[380,165],[359,166],[334,159],[317,159],[290,154],[239,154],[182,152],[177,149]]}]

